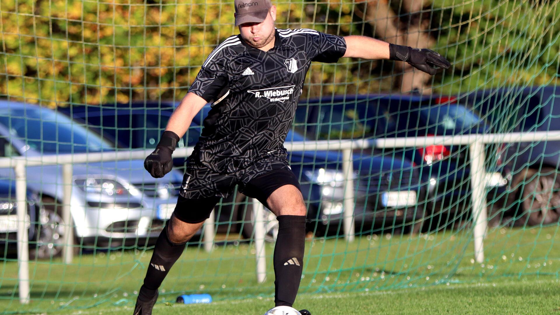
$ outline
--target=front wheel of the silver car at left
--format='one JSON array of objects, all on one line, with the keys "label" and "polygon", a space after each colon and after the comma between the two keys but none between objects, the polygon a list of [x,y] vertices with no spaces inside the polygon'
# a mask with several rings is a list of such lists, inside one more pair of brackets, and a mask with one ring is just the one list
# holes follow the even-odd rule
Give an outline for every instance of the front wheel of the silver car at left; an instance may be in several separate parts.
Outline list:
[{"label": "front wheel of the silver car at left", "polygon": [[53,198],[41,199],[37,243],[32,251],[34,257],[50,258],[60,255],[64,245],[64,221],[60,212],[62,205]]}]

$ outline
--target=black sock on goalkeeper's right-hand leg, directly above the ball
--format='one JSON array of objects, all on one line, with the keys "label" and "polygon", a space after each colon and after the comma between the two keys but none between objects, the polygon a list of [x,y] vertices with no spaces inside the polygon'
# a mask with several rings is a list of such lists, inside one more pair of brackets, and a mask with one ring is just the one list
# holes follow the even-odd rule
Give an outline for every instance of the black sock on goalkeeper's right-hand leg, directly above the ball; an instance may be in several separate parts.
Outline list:
[{"label": "black sock on goalkeeper's right-hand leg, directly above the ball", "polygon": [[292,306],[304,269],[305,216],[279,215],[274,247],[274,304]]}]

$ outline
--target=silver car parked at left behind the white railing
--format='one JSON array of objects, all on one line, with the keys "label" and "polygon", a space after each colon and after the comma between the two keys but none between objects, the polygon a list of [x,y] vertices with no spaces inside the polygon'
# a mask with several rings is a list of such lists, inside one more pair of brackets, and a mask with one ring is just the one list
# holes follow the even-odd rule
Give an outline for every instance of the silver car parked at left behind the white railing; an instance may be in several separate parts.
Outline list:
[{"label": "silver car parked at left behind the white railing", "polygon": [[[109,118],[108,118],[109,119]],[[113,151],[115,145],[55,110],[0,101],[0,156],[36,157]],[[0,178],[14,179],[11,168]],[[155,241],[178,197],[183,175],[177,170],[152,178],[143,160],[102,161],[73,165],[71,223],[76,242],[96,247],[145,245]],[[62,243],[62,166],[27,167],[27,187],[39,192],[46,211],[44,244],[50,255]],[[45,230],[46,229],[46,230]]]}]

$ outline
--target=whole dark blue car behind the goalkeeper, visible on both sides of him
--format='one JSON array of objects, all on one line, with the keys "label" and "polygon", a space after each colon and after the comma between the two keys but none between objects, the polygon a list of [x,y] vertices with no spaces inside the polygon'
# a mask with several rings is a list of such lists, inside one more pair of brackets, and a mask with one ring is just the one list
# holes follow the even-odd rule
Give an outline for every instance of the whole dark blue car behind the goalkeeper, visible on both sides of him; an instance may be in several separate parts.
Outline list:
[{"label": "whole dark blue car behind the goalkeeper, visible on both sides of him", "polygon": [[[103,135],[116,138],[130,149],[152,148],[157,145],[172,111],[178,103],[138,102],[105,106],[73,105],[62,109],[78,121],[98,128]],[[203,119],[211,106],[208,104],[195,116],[179,147],[194,146],[202,132]],[[132,130],[130,130],[132,129]],[[289,132],[286,141],[304,141],[297,132]],[[309,141],[309,140],[308,140]],[[302,194],[308,206],[307,229],[343,231],[342,154],[339,151],[306,150],[291,152],[288,159],[292,172],[300,179]],[[175,158],[175,166],[182,166],[183,159]],[[416,213],[421,194],[418,173],[403,156],[372,157],[354,154],[353,168],[356,206],[354,218],[358,231],[389,228],[409,229]],[[241,232],[245,237],[253,233],[253,211],[247,198],[236,193],[222,200],[216,208],[218,231]],[[271,237],[277,228],[274,215],[265,213],[267,230]],[[230,224],[231,223],[231,224]]]}]

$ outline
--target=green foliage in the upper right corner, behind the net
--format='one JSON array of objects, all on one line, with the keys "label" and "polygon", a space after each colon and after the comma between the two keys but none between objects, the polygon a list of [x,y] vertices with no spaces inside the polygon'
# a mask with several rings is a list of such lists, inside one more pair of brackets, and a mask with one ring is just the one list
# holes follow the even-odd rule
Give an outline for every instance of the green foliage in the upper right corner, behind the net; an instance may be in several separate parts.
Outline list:
[{"label": "green foliage in the upper right corner, behind the net", "polygon": [[[548,85],[558,76],[558,1],[437,0],[438,47],[454,64],[446,92]],[[451,17],[451,18],[449,18]]]}]

